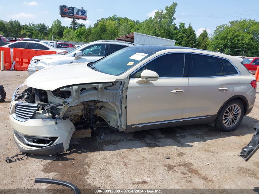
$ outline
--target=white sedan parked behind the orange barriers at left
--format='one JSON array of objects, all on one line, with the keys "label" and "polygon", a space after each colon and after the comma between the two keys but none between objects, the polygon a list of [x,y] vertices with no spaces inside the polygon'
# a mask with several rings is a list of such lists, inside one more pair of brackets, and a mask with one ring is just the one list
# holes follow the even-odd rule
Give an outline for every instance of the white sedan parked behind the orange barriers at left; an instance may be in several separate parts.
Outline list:
[{"label": "white sedan parked behind the orange barriers at left", "polygon": [[[10,44],[6,44],[2,47],[9,47],[11,52],[11,60],[13,62],[13,48],[26,48],[26,49],[34,49],[34,50],[48,50],[48,51],[57,51],[57,54],[65,54],[64,50],[59,50],[49,45],[40,42],[33,41],[16,41]],[[37,58],[37,56],[36,56]]]}]

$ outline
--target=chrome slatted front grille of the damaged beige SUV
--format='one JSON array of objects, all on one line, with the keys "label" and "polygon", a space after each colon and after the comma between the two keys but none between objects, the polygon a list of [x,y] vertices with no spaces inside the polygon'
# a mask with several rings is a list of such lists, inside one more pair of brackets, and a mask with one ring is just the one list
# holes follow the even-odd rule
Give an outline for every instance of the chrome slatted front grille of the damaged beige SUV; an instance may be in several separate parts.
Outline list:
[{"label": "chrome slatted front grille of the damaged beige SUV", "polygon": [[14,114],[23,119],[32,118],[33,114],[38,110],[38,104],[18,102],[15,105]]}]

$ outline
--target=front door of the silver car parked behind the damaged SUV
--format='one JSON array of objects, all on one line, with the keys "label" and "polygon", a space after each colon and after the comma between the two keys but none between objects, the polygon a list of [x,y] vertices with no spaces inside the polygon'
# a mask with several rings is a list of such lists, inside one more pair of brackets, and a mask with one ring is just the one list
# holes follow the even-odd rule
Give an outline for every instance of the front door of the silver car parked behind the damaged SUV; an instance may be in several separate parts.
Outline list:
[{"label": "front door of the silver car parked behind the damaged SUV", "polygon": [[82,50],[83,56],[77,60],[73,57],[73,63],[94,62],[107,55],[106,44],[92,44]]}]

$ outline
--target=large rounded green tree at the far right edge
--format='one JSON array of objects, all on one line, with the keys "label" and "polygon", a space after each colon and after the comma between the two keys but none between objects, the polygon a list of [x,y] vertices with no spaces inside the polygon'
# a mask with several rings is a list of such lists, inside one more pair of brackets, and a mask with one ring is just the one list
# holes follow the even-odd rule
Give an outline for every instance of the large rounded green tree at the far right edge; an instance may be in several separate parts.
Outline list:
[{"label": "large rounded green tree at the far right edge", "polygon": [[[258,56],[259,22],[251,19],[230,21],[219,25],[210,38],[208,49],[230,55]],[[229,50],[230,48],[230,50]]]}]

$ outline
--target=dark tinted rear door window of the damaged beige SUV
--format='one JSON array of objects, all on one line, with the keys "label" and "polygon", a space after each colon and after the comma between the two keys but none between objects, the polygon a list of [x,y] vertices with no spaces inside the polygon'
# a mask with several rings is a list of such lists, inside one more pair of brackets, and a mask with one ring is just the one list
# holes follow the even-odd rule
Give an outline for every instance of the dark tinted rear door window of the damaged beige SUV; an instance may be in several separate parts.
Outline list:
[{"label": "dark tinted rear door window of the damaged beige SUV", "polygon": [[192,54],[188,77],[222,76],[223,68],[220,59],[208,55]]}]

